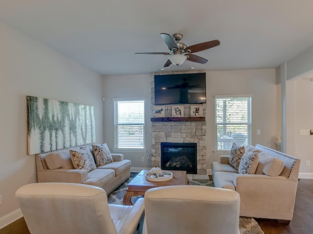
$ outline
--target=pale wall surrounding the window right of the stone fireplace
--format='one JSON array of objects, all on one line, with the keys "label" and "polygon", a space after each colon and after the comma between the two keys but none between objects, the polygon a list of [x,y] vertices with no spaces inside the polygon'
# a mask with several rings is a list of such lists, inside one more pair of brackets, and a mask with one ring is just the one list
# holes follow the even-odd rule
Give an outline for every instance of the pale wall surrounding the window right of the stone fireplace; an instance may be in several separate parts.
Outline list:
[{"label": "pale wall surrounding the window right of the stone fireplace", "polygon": [[[207,168],[219,160],[215,150],[214,95],[252,94],[252,145],[275,149],[277,136],[277,85],[275,69],[216,71],[206,73]],[[261,135],[257,135],[257,130]],[[229,153],[228,153],[229,154]]]}]

